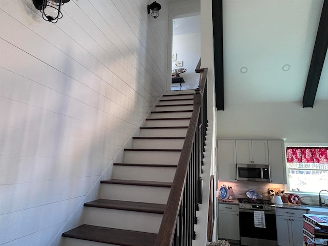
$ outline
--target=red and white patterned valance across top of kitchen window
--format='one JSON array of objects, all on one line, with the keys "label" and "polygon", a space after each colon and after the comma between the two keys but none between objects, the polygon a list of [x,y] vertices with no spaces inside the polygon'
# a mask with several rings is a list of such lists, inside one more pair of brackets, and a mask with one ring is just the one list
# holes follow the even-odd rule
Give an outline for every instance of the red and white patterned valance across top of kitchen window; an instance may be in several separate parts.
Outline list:
[{"label": "red and white patterned valance across top of kitchen window", "polygon": [[287,147],[287,162],[328,163],[328,147]]}]

